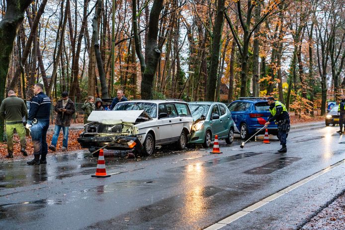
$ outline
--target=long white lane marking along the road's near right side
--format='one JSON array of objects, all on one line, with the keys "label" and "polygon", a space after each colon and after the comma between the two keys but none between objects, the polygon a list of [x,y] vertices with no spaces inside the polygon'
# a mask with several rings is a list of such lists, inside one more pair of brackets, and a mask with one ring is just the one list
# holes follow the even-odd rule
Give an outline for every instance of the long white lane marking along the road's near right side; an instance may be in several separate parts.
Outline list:
[{"label": "long white lane marking along the road's near right side", "polygon": [[328,166],[327,168],[324,168],[321,171],[319,171],[317,173],[314,173],[313,175],[308,176],[307,178],[304,178],[303,180],[300,180],[300,181],[290,185],[289,187],[284,188],[284,189],[282,189],[282,190],[280,190],[280,191],[278,191],[278,192],[276,192],[276,193],[274,193],[274,194],[272,194],[272,195],[270,195],[270,196],[260,200],[259,202],[255,203],[255,204],[253,204],[253,205],[251,205],[251,206],[249,206],[249,207],[247,207],[247,208],[245,208],[245,209],[243,209],[243,210],[241,210],[241,211],[239,211],[239,212],[237,212],[237,213],[235,213],[235,214],[233,214],[231,216],[228,216],[228,217],[224,218],[223,220],[219,221],[218,223],[207,227],[205,230],[218,230],[218,229],[221,229],[221,228],[225,227],[226,225],[231,224],[232,222],[240,219],[241,217],[244,217],[247,214],[257,210],[258,208],[264,206],[265,204],[268,204],[269,202],[275,200],[276,198],[281,197],[281,196],[287,194],[288,192],[291,192],[293,189],[302,186],[303,184],[305,184],[305,183],[307,183],[307,182],[309,182],[309,181],[311,181],[311,180],[313,180],[313,179],[315,179],[315,178],[317,178],[317,177],[319,177],[319,176],[321,176],[321,175],[323,175],[323,174],[325,174],[325,173],[335,169],[336,167],[338,167],[338,166],[340,166],[340,165],[342,165],[344,163],[345,163],[345,159],[343,159],[343,160],[341,160],[341,161],[339,161],[339,162],[337,162],[335,164],[332,164],[332,165]]}]

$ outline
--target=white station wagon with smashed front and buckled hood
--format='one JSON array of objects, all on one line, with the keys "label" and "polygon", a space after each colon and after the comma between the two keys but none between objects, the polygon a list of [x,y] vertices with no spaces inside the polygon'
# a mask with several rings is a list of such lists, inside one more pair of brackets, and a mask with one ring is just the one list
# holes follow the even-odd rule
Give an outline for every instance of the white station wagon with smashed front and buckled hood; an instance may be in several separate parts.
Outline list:
[{"label": "white station wagon with smashed front and buckled hood", "polygon": [[193,123],[188,104],[180,100],[138,100],[116,104],[112,111],[92,111],[78,138],[82,148],[104,147],[151,155],[156,145],[185,148]]}]

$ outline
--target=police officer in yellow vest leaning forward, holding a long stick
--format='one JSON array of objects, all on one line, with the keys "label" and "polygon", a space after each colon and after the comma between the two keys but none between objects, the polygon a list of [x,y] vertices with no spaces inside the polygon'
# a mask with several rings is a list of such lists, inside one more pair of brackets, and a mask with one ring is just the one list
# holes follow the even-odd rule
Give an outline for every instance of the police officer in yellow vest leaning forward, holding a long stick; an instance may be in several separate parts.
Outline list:
[{"label": "police officer in yellow vest leaning forward, holding a long stick", "polygon": [[276,121],[278,123],[278,137],[282,148],[278,150],[279,153],[286,153],[286,134],[290,131],[290,116],[286,110],[285,105],[280,101],[276,101],[274,97],[268,97],[269,111],[271,115],[265,125]]}]

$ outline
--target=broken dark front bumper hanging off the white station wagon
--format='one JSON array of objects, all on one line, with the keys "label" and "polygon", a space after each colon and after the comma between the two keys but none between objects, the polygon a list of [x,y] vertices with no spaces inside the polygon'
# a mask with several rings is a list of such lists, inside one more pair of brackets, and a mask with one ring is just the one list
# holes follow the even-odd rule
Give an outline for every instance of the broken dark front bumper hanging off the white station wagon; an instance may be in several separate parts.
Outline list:
[{"label": "broken dark front bumper hanging off the white station wagon", "polygon": [[[89,136],[86,137],[84,133],[78,138],[78,142],[82,148],[96,150],[116,140],[114,143],[104,147],[108,150],[133,150],[140,153],[144,148],[137,137],[131,136]],[[135,146],[129,146],[130,141],[135,142]]]}]

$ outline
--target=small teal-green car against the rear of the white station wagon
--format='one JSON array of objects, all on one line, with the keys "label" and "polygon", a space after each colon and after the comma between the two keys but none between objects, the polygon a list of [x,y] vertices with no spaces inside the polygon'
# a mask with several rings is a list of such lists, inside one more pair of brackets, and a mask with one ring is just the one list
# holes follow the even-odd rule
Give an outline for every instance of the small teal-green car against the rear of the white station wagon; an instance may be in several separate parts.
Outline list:
[{"label": "small teal-green car against the rear of the white station wagon", "polygon": [[224,103],[188,102],[188,105],[194,120],[189,144],[202,144],[207,148],[216,135],[227,144],[234,141],[235,123]]}]

